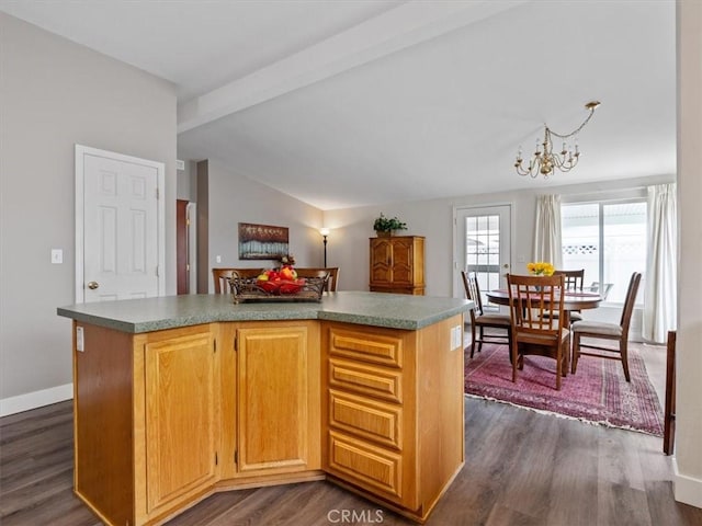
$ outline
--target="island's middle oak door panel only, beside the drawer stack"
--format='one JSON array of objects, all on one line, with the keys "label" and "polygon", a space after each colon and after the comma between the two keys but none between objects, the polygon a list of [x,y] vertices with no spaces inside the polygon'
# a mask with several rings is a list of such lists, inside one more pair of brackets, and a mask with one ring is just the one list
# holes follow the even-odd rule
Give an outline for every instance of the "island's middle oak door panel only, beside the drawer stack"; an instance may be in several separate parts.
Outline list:
[{"label": "island's middle oak door panel only, beside the drawer stack", "polygon": [[305,469],[309,456],[307,327],[237,331],[238,471]]}]

